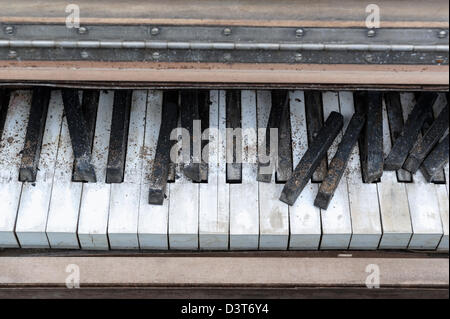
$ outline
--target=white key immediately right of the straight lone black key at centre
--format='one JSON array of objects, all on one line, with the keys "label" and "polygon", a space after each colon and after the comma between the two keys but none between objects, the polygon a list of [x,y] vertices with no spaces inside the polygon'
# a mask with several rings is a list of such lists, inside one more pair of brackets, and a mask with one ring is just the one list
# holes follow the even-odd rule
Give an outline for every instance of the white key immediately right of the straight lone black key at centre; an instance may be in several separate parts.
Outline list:
[{"label": "white key immediately right of the straight lone black key at centre", "polygon": [[256,93],[241,92],[242,183],[230,184],[230,249],[256,250],[259,244],[256,182]]}]

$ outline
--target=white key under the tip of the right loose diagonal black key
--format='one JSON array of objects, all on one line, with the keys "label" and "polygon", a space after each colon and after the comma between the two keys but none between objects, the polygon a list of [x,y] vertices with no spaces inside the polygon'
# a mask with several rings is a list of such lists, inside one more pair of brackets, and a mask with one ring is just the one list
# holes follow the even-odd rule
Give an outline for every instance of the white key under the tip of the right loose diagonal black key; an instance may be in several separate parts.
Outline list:
[{"label": "white key under the tip of the right loose diagonal black key", "polygon": [[[325,92],[322,95],[322,100],[324,119],[327,119],[333,111],[339,112],[339,95],[337,93]],[[345,102],[349,103],[350,101],[345,100]],[[349,112],[344,113],[344,131],[350,122],[350,118]],[[331,162],[336,154],[341,140],[342,133],[339,133],[328,150],[328,162]],[[351,163],[348,165],[350,166]],[[352,221],[348,194],[347,174],[344,172],[330,206],[327,210],[321,210],[323,232],[321,249],[347,249],[349,247],[352,236]]]}]

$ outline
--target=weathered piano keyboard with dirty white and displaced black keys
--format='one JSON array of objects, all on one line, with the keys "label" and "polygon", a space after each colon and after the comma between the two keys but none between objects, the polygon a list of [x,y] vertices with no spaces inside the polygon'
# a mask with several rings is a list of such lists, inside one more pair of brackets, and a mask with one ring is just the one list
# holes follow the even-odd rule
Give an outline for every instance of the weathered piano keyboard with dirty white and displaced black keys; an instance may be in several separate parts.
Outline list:
[{"label": "weathered piano keyboard with dirty white and displaced black keys", "polygon": [[[154,165],[163,162],[161,150],[168,150],[167,140],[158,143],[165,136],[160,129],[177,120],[170,118],[173,114],[164,101],[173,100],[174,94],[178,93],[0,90],[0,247],[448,251],[448,136],[447,164],[431,183],[421,169],[410,174],[400,167],[377,177],[369,167],[372,162],[361,164],[376,156],[387,158],[391,149],[400,148],[398,139],[408,138],[402,137],[401,129],[396,131],[396,125],[411,124],[415,94],[384,94],[381,135],[366,141],[375,145],[382,140],[382,154],[366,154],[376,152],[377,146],[366,150],[360,139],[350,149],[327,209],[315,206],[315,199],[355,113],[357,94],[288,92],[279,145],[287,164],[283,169],[280,164],[269,182],[258,181],[254,151],[266,143],[259,132],[265,132],[275,105],[276,94],[270,91],[202,92],[209,101],[186,115],[210,128],[203,133],[209,138],[207,169],[192,168],[201,181],[188,178],[181,164],[171,164],[157,176],[160,167]],[[186,96],[181,94],[181,99]],[[438,94],[434,116],[438,118],[445,107],[446,96]],[[293,205],[285,204],[280,194],[289,177],[286,172],[297,166],[333,112],[342,115],[342,129]],[[78,120],[80,114],[85,121]],[[243,132],[258,132],[243,134],[242,156],[247,161],[241,165],[227,164],[230,124]],[[448,132],[448,119],[446,125]],[[427,134],[419,129],[419,137]],[[423,165],[434,167],[428,162]],[[366,175],[375,182],[365,183]],[[167,180],[160,203],[149,204],[150,188]]]}]

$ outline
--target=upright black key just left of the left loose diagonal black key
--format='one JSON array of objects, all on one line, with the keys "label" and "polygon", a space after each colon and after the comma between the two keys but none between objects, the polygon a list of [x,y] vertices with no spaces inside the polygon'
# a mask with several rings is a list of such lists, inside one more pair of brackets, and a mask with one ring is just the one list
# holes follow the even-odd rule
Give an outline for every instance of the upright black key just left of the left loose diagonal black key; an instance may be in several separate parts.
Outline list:
[{"label": "upright black key just left of the left loose diagonal black key", "polygon": [[[291,139],[291,116],[289,107],[289,92],[279,92],[278,103],[283,103],[280,125],[278,128],[278,165],[276,182],[284,183],[292,175],[292,139]],[[272,95],[273,100],[273,95]]]}]

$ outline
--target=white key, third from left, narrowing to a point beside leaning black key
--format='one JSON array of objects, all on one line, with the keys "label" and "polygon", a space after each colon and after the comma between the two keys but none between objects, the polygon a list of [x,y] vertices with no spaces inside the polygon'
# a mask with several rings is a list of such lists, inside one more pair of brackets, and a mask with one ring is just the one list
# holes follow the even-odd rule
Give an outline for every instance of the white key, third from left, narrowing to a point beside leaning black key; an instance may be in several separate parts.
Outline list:
[{"label": "white key, third from left, narrowing to a point beside leaning black key", "polygon": [[73,163],[69,127],[64,117],[47,220],[47,238],[51,248],[80,247],[77,228],[83,183],[72,182]]}]

